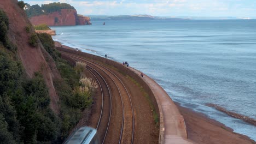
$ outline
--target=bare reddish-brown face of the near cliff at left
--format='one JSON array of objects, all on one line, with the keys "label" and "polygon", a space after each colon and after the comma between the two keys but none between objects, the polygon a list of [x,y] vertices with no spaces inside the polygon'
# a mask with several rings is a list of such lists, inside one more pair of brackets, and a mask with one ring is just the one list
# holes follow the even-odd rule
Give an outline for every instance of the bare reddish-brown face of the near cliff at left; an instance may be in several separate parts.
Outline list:
[{"label": "bare reddish-brown face of the near cliff at left", "polygon": [[[0,9],[3,9],[9,18],[8,37],[13,44],[18,46],[18,56],[27,76],[32,78],[37,71],[43,74],[46,86],[49,88],[50,107],[55,113],[59,113],[59,97],[53,85],[53,79],[60,77],[59,71],[53,58],[45,51],[40,42],[36,47],[31,47],[28,44],[31,33],[27,33],[25,27],[31,24],[25,11],[19,8],[17,3],[17,0],[0,1]],[[33,29],[31,30],[34,32]],[[45,57],[48,58],[48,62]]]}]

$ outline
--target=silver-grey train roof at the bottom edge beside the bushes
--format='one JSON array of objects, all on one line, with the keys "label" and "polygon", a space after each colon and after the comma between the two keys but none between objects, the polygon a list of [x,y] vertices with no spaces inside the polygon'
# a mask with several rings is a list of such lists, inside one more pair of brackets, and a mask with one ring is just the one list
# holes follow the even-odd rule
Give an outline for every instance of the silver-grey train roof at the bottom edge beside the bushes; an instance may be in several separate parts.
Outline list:
[{"label": "silver-grey train roof at the bottom edge beside the bushes", "polygon": [[68,137],[64,144],[99,144],[97,130],[91,127],[80,127]]}]

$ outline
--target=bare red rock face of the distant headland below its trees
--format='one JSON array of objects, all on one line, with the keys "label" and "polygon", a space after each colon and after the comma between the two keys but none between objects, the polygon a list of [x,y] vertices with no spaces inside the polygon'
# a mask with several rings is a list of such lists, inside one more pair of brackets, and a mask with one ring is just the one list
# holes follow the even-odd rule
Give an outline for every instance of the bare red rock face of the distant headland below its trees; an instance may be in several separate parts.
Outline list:
[{"label": "bare red rock face of the distant headland below its trees", "polygon": [[47,15],[30,17],[33,25],[45,23],[48,26],[91,25],[90,17],[77,14],[75,9],[61,9]]}]

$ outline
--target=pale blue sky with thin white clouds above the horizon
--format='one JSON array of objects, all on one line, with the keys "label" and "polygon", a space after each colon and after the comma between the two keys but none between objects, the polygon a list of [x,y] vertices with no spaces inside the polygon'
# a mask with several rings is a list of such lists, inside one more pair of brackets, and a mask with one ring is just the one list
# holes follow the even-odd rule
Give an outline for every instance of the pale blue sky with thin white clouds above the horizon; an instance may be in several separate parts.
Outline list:
[{"label": "pale blue sky with thin white clouds above the horizon", "polygon": [[256,0],[23,0],[33,4],[71,4],[82,15],[256,17]]}]

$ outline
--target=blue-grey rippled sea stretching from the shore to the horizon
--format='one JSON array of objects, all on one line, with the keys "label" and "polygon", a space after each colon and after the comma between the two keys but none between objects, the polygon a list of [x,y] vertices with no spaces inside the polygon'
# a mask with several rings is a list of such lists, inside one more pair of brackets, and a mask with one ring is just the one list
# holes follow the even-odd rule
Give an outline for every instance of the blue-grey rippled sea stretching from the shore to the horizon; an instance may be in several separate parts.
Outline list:
[{"label": "blue-grey rippled sea stretching from the shore to the horizon", "polygon": [[256,119],[256,20],[92,21],[51,27],[54,40],[129,62],[170,97],[256,140],[256,127],[206,104]]}]

